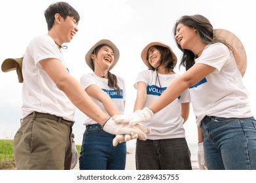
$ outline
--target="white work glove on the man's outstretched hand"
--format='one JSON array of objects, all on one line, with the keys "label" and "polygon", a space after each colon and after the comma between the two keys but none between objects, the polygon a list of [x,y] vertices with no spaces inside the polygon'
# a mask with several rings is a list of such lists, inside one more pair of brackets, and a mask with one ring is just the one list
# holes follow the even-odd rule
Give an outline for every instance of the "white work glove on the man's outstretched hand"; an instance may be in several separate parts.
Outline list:
[{"label": "white work glove on the man's outstretched hand", "polygon": [[128,124],[116,124],[112,118],[109,118],[103,124],[103,130],[113,135],[130,135],[132,139],[147,139],[147,127],[141,125],[139,127],[131,127]]}]

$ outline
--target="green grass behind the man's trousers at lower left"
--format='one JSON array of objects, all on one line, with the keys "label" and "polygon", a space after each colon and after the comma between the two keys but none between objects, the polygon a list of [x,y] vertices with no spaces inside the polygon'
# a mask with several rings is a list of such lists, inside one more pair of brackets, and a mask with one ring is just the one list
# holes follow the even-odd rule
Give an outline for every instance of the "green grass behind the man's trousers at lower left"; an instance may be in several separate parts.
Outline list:
[{"label": "green grass behind the man's trousers at lower left", "polygon": [[[81,145],[76,145],[80,154]],[[0,169],[15,169],[13,140],[0,140]]]}]

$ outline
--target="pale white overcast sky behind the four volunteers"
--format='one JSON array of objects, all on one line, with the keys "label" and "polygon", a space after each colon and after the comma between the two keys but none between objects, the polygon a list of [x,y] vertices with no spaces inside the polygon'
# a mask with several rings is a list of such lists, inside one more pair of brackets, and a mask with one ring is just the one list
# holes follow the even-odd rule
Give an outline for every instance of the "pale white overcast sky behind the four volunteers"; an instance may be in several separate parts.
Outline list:
[{"label": "pale white overcast sky behind the four volunteers", "polygon": [[[44,11],[54,1],[1,1],[1,44],[0,63],[6,58],[20,58],[27,44],[37,35],[47,33]],[[113,41],[120,50],[120,59],[114,69],[126,81],[126,114],[132,112],[136,99],[133,88],[137,73],[147,67],[140,58],[141,50],[152,41],[169,44],[178,58],[181,52],[173,37],[175,21],[183,15],[202,14],[215,29],[227,29],[238,36],[247,54],[247,70],[244,83],[249,92],[253,113],[256,112],[255,98],[255,5],[253,1],[205,1],[205,0],[94,0],[66,1],[77,9],[81,16],[79,32],[73,41],[66,44],[65,59],[71,75],[77,80],[83,73],[92,73],[84,56],[87,50],[100,39]],[[253,55],[254,54],[254,55]],[[184,70],[175,68],[176,73]],[[0,71],[0,139],[13,139],[20,126],[21,89],[15,71]],[[75,115],[75,141],[82,143],[84,114],[77,110]],[[197,142],[194,114],[191,108],[189,120],[185,123],[189,143]],[[134,146],[134,141],[128,142]]]}]

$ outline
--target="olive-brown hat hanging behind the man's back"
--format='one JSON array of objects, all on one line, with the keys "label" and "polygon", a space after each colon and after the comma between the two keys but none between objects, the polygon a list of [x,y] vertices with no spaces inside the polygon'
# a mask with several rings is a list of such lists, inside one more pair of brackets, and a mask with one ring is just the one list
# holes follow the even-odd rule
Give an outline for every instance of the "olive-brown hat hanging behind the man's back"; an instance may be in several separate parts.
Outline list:
[{"label": "olive-brown hat hanging behind the man's back", "polygon": [[19,82],[23,82],[22,76],[22,59],[23,58],[7,58],[3,61],[1,69],[7,73],[9,71],[16,70]]}]

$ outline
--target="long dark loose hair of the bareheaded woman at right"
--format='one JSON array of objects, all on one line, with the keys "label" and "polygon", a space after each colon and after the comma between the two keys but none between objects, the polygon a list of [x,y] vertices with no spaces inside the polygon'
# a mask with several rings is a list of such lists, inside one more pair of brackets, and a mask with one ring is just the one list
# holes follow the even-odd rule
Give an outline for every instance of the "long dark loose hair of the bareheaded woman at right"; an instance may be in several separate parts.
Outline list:
[{"label": "long dark loose hair of the bareheaded woman at right", "polygon": [[[200,14],[195,14],[192,16],[182,16],[179,20],[177,20],[177,22],[174,25],[174,37],[176,35],[176,29],[177,29],[177,25],[179,24],[183,24],[185,26],[191,27],[196,29],[196,32],[198,33],[200,39],[205,43],[205,44],[213,44],[215,42],[222,42],[223,44],[225,44],[226,46],[228,46],[230,48],[229,45],[227,45],[225,42],[221,41],[221,40],[217,40],[214,39],[214,35],[213,35],[213,26],[211,25],[210,21],[200,15]],[[181,63],[179,64],[179,67],[181,67],[181,65],[183,65],[186,68],[186,71],[191,68],[194,65],[194,58],[195,55],[193,52],[191,52],[191,50],[186,50],[181,48],[181,46],[177,43],[176,44],[179,48],[179,50],[181,50],[181,52],[183,52],[183,56],[181,58]]]}]

